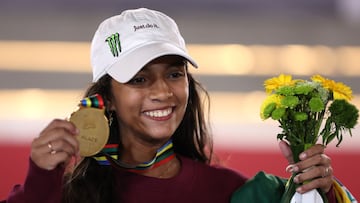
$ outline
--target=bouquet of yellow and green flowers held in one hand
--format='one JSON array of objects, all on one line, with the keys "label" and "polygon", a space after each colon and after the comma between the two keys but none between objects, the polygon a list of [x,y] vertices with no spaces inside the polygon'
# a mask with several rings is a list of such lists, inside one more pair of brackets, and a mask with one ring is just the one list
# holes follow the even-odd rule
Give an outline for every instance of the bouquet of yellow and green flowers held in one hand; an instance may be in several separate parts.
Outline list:
[{"label": "bouquet of yellow and green flowers held in one hand", "polygon": [[[277,138],[289,143],[295,162],[299,161],[299,154],[318,143],[319,138],[324,146],[334,139],[339,146],[346,132],[352,136],[351,129],[357,124],[359,114],[349,103],[352,90],[345,84],[320,75],[308,81],[281,74],[267,79],[264,86],[268,96],[260,116],[263,120],[271,118],[279,122],[282,132]],[[290,202],[296,193],[295,175],[286,185],[282,202]]]}]

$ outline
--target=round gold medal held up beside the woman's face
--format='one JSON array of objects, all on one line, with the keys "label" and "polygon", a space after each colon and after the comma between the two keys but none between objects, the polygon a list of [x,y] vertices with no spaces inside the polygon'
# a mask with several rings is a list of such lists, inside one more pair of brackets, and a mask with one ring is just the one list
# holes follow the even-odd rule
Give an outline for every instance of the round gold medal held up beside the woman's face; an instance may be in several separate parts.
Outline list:
[{"label": "round gold medal held up beside the woman's face", "polygon": [[79,129],[80,156],[92,156],[100,152],[109,138],[109,126],[104,109],[80,108],[70,116],[70,121]]}]

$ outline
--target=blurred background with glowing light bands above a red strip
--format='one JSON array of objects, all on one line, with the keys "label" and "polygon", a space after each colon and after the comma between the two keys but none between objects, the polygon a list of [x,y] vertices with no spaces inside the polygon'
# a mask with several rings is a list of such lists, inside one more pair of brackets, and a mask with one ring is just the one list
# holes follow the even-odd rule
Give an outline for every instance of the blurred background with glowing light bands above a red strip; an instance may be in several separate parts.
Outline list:
[{"label": "blurred background with glowing light bands above a red strip", "polygon": [[[91,82],[89,48],[98,24],[130,8],[160,10],[178,23],[210,91],[219,161],[252,176],[288,177],[278,124],[262,121],[263,81],[313,74],[353,89],[360,108],[358,0],[1,0],[0,199],[23,183],[30,143],[66,118]],[[360,198],[360,130],[326,149],[335,176]]]}]

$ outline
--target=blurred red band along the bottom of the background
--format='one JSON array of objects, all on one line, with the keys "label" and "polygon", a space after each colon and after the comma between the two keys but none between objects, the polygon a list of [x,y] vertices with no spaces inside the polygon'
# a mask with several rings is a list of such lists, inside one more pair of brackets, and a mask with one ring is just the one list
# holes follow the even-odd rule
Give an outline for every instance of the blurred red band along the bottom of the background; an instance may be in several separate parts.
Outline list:
[{"label": "blurred red band along the bottom of the background", "polygon": [[[24,181],[28,157],[29,145],[0,144],[0,200],[4,199],[12,186]],[[338,177],[353,195],[360,198],[360,182],[357,172],[360,166],[359,152],[329,152],[335,176]],[[252,176],[259,170],[267,173],[287,177],[285,173],[286,161],[279,151],[261,150],[241,151],[225,147],[216,149],[216,158],[219,163],[227,167],[239,170],[245,175]]]}]

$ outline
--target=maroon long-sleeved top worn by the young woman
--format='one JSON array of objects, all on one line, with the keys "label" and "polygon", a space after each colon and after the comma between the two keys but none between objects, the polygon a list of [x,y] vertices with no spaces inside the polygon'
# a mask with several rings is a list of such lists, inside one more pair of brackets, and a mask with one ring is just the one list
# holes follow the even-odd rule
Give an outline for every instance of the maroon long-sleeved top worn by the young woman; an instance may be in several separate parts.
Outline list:
[{"label": "maroon long-sleeved top worn by the young woman", "polygon": [[[115,170],[114,194],[119,202],[229,202],[232,193],[248,179],[223,167],[209,166],[179,156],[180,173],[170,179],[158,179],[124,170]],[[1,203],[60,203],[64,169],[47,171],[31,160],[24,185],[16,185]],[[333,192],[327,194],[335,203]]]}]

